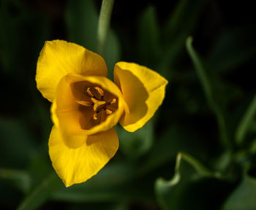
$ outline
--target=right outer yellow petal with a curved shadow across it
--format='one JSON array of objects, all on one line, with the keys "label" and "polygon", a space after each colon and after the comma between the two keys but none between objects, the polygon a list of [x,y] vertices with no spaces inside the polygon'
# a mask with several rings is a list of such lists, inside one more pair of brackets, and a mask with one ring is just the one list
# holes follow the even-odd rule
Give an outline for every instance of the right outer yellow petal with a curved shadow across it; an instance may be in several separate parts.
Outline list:
[{"label": "right outer yellow petal with a curved shadow across it", "polygon": [[136,63],[118,62],[114,82],[121,89],[129,109],[119,123],[129,132],[141,128],[165,98],[167,80],[156,71]]}]

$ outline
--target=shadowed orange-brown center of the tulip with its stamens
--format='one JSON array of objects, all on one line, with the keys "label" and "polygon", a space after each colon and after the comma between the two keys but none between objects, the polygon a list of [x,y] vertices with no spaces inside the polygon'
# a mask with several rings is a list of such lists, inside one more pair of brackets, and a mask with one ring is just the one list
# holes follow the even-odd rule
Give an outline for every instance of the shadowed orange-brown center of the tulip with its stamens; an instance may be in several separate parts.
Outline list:
[{"label": "shadowed orange-brown center of the tulip with its stamens", "polygon": [[[104,91],[99,86],[88,87],[83,89],[85,97],[83,100],[76,101],[82,106],[87,106],[93,112],[89,125],[97,125],[105,121],[108,115],[117,109],[117,98],[108,91]],[[89,121],[91,121],[89,120]],[[89,127],[91,127],[89,126]],[[87,127],[87,126],[86,126]]]}]

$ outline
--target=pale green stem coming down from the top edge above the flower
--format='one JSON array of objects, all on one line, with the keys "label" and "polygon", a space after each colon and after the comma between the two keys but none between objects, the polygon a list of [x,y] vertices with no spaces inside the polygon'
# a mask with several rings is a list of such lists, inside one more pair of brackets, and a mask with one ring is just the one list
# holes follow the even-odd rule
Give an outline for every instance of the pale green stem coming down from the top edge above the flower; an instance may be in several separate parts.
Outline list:
[{"label": "pale green stem coming down from the top edge above the flower", "polygon": [[102,0],[102,7],[99,13],[98,25],[98,52],[102,55],[105,52],[105,45],[108,38],[110,27],[111,13],[113,10],[114,0]]}]

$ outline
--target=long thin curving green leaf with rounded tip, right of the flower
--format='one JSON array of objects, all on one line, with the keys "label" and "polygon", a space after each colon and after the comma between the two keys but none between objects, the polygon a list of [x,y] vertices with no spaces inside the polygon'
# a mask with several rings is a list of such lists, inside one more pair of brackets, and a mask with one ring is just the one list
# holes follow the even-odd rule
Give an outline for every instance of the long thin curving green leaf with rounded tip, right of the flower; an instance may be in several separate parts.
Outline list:
[{"label": "long thin curving green leaf with rounded tip, right of the flower", "polygon": [[195,52],[194,48],[192,47],[192,37],[187,38],[186,47],[187,52],[189,53],[189,56],[195,66],[197,76],[199,77],[201,85],[203,86],[208,104],[217,117],[219,131],[222,137],[222,144],[225,147],[230,147],[230,136],[228,133],[225,111],[222,106],[223,101],[222,98],[219,98],[219,91],[217,91],[216,86],[214,86],[214,82],[212,82],[211,77],[208,76],[208,72],[204,68],[202,61],[197,55],[197,52]]}]

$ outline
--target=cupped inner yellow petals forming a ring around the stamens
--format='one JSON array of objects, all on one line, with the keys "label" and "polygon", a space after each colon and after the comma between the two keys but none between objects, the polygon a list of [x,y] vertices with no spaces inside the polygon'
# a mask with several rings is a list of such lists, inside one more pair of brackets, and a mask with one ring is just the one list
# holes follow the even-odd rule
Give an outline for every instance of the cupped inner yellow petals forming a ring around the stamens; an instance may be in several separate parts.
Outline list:
[{"label": "cupped inner yellow petals forming a ring around the stamens", "polygon": [[[82,125],[87,125],[92,117],[96,117],[94,117],[94,111],[91,109],[91,107],[80,106],[80,104],[77,102],[84,101],[83,93],[78,92],[75,93],[76,95],[74,95],[74,91],[72,91],[72,84],[81,81],[100,86],[102,89],[108,90],[110,93],[116,96],[116,98],[118,98],[116,111],[108,115],[104,122],[100,123],[99,125],[95,125],[90,129],[83,128]],[[121,91],[115,83],[110,81],[110,79],[106,77],[83,77],[78,74],[68,74],[61,79],[61,82],[59,82],[59,86],[56,90],[56,97],[51,107],[51,114],[53,123],[61,130],[62,136],[65,142],[67,142],[67,146],[75,148],[79,147],[78,143],[80,142],[82,144],[83,141],[79,140],[78,142],[75,141],[74,143],[73,141],[69,141],[69,136],[89,136],[93,135],[94,133],[108,131],[118,123],[118,120],[124,113],[124,106],[125,101]],[[85,113],[87,115],[85,115]]]}]

